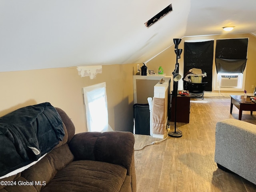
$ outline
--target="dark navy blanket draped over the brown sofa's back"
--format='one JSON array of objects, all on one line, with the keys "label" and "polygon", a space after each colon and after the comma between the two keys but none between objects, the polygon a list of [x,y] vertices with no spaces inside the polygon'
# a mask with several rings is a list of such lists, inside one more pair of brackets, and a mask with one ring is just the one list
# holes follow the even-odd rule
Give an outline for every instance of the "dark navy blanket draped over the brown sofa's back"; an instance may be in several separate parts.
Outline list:
[{"label": "dark navy blanket draped over the brown sofa's back", "polygon": [[38,160],[64,137],[62,120],[48,102],[0,118],[0,177]]}]

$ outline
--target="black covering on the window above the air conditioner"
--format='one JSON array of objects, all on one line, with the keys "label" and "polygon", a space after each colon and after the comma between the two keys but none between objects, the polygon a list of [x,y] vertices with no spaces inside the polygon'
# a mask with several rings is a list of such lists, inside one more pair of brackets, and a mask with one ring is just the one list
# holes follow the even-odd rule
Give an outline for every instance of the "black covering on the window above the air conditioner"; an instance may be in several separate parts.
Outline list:
[{"label": "black covering on the window above the air conditioner", "polygon": [[217,73],[243,73],[247,61],[248,38],[216,41]]}]

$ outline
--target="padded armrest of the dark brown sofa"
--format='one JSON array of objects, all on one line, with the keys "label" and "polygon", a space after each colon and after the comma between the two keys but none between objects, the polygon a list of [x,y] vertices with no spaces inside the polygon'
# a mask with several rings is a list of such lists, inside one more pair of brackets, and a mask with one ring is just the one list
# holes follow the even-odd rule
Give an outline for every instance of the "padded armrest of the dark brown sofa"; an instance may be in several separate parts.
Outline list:
[{"label": "padded armrest of the dark brown sofa", "polygon": [[69,143],[75,160],[96,160],[130,168],[134,152],[131,132],[83,132]]}]

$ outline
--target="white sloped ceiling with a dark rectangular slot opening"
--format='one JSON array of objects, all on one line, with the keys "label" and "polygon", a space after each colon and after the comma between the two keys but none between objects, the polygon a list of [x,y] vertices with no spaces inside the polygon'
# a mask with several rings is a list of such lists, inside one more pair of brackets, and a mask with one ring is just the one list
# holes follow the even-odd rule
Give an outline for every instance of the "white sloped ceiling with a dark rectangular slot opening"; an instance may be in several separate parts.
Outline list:
[{"label": "white sloped ceiling with a dark rectangular slot opening", "polygon": [[256,34],[255,0],[0,0],[0,72],[147,62],[173,38],[228,25]]}]

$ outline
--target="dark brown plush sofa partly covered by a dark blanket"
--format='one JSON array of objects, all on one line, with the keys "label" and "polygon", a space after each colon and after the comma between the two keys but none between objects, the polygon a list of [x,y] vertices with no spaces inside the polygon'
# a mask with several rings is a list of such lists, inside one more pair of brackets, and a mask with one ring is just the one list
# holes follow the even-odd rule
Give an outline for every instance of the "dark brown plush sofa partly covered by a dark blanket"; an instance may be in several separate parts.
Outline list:
[{"label": "dark brown plush sofa partly covered by a dark blanket", "polygon": [[133,134],[75,134],[68,115],[56,110],[63,140],[30,168],[1,179],[0,192],[135,192]]}]

